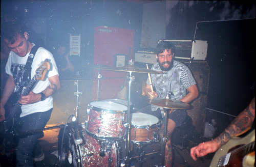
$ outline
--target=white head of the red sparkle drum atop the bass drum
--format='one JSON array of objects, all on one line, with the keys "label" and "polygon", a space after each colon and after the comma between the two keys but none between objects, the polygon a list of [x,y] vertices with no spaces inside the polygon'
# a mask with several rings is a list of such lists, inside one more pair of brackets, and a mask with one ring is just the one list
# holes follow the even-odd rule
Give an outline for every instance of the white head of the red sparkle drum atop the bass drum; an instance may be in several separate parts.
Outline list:
[{"label": "white head of the red sparkle drum atop the bass drum", "polygon": [[127,106],[123,104],[118,104],[112,101],[93,101],[90,103],[90,106],[95,109],[103,109],[103,110],[110,110],[110,111],[126,111]]}]

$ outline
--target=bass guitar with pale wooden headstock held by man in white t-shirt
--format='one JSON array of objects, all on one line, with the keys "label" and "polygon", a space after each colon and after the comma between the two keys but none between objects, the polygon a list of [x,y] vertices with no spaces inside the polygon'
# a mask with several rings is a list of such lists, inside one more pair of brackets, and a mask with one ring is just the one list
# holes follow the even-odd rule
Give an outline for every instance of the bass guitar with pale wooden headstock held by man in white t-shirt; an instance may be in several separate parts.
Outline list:
[{"label": "bass guitar with pale wooden headstock held by man in white t-shirt", "polygon": [[[31,91],[31,89],[33,88],[33,86],[36,84],[37,80],[44,80],[45,75],[47,73],[47,71],[50,70],[50,62],[48,59],[45,60],[44,63],[42,63],[42,65],[40,65],[40,67],[38,67],[35,71],[35,75],[33,78],[31,78],[28,86],[26,87],[26,89],[24,90],[23,95],[27,96],[29,94],[29,92]],[[8,117],[6,118],[6,120],[4,121],[4,128],[5,128],[5,132],[10,132],[13,130],[14,127],[14,122],[15,122],[15,117],[18,115],[19,113],[19,108],[20,106],[22,106],[22,104],[20,104],[18,101],[15,103],[15,105],[13,106],[11,112],[9,113]]]}]

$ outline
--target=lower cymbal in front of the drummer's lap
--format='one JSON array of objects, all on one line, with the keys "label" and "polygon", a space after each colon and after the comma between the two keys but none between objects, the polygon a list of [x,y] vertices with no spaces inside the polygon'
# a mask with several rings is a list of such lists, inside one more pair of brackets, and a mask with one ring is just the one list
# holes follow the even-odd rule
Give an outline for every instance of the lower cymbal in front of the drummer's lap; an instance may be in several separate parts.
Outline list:
[{"label": "lower cymbal in front of the drummer's lap", "polygon": [[172,108],[172,109],[187,109],[189,104],[182,102],[180,100],[166,99],[161,97],[148,98],[145,102],[157,105],[163,108]]}]

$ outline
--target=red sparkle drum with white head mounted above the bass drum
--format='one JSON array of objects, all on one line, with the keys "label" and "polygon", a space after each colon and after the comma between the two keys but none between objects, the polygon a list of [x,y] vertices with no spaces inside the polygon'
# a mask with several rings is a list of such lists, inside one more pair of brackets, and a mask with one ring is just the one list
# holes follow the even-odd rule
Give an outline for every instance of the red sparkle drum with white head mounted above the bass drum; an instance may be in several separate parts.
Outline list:
[{"label": "red sparkle drum with white head mounted above the bass drum", "polygon": [[127,106],[112,101],[93,101],[88,105],[86,130],[100,140],[119,140],[125,135]]}]

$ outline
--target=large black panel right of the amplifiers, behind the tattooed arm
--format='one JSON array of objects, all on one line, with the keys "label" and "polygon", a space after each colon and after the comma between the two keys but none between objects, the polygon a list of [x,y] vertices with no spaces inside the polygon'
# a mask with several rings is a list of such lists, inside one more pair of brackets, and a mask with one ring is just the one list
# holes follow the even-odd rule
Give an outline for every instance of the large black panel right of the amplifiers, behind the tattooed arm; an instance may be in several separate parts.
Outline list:
[{"label": "large black panel right of the amplifiers, behind the tattooed arm", "polygon": [[195,39],[208,41],[207,107],[238,115],[254,95],[255,19],[200,22]]}]

